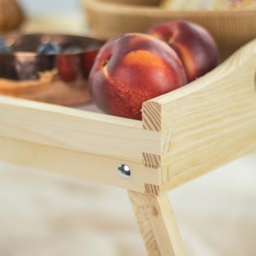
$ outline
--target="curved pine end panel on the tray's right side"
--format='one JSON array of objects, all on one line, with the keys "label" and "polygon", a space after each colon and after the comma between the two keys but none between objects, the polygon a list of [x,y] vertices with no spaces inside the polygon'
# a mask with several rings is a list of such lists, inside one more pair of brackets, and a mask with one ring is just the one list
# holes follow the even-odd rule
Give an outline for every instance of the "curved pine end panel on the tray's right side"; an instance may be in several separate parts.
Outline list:
[{"label": "curved pine end panel on the tray's right side", "polygon": [[255,72],[253,40],[201,79],[144,103],[144,127],[163,134],[161,189],[256,150]]}]

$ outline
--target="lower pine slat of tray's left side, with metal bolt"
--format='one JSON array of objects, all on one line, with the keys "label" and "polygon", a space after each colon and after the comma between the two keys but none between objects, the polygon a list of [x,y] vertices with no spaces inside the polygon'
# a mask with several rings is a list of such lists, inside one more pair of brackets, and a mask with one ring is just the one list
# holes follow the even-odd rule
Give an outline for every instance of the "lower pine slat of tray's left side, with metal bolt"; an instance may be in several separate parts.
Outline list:
[{"label": "lower pine slat of tray's left side, with metal bolt", "polygon": [[118,166],[124,163],[122,160],[10,137],[0,136],[0,160],[26,166],[34,171],[49,172],[94,183],[107,183],[141,193],[145,193],[145,183],[151,185],[160,183],[160,172],[147,168],[143,163],[126,160],[125,164],[131,168],[131,177],[126,180],[121,178],[118,172]]}]

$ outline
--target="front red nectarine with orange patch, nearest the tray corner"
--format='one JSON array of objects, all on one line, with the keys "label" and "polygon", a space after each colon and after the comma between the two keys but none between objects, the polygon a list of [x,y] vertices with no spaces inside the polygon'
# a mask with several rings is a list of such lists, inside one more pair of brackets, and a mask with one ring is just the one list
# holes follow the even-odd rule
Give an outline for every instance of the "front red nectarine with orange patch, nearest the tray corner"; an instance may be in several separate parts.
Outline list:
[{"label": "front red nectarine with orange patch, nearest the tray corner", "polygon": [[187,83],[176,52],[143,33],[114,37],[102,46],[89,75],[92,99],[106,113],[141,119],[143,102]]}]

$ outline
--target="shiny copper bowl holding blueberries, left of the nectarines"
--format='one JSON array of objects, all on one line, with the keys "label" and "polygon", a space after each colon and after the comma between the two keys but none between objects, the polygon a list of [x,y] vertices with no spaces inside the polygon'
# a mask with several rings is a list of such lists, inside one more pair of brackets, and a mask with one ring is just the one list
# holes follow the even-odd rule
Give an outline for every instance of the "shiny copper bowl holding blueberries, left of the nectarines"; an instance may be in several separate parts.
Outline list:
[{"label": "shiny copper bowl holding blueberries, left of the nectarines", "polygon": [[[0,53],[0,94],[66,106],[90,101],[87,79],[104,41],[58,34],[6,35],[12,52]],[[38,54],[45,43],[61,49],[78,47],[73,53]]]}]

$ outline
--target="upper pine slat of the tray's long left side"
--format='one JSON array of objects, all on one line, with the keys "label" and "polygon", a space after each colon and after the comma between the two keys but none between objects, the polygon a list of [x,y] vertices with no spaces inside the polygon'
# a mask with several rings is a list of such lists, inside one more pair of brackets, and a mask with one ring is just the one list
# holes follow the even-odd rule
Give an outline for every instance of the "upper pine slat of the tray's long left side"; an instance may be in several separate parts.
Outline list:
[{"label": "upper pine slat of the tray's long left side", "polygon": [[139,163],[145,150],[160,152],[160,133],[141,121],[8,96],[0,96],[0,134]]}]

